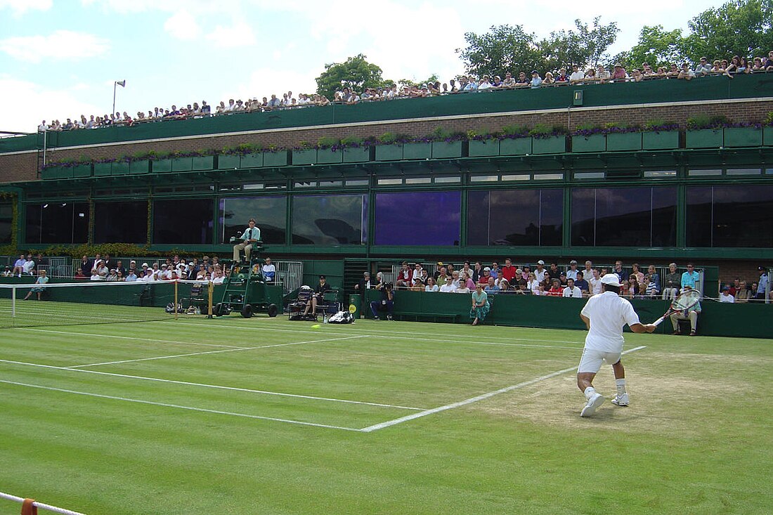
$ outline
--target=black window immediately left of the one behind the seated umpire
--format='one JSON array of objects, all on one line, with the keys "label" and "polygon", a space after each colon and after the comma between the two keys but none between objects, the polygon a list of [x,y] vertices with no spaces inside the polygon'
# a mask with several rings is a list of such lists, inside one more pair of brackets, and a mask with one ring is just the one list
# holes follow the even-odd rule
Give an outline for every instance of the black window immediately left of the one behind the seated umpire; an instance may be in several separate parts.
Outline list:
[{"label": "black window immediately left of the one behind the seated umpire", "polygon": [[155,200],[153,243],[213,243],[213,210],[211,199]]}]

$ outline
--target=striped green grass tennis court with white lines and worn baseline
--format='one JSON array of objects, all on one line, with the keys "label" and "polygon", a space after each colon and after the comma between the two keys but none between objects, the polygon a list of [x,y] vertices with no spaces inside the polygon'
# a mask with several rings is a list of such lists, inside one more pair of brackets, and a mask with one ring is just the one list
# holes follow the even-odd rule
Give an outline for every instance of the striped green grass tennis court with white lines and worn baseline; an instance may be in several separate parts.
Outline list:
[{"label": "striped green grass tennis court with white lines and worn baseline", "polygon": [[773,341],[627,334],[632,406],[581,419],[583,339],[238,316],[3,329],[0,490],[89,515],[773,512]]}]

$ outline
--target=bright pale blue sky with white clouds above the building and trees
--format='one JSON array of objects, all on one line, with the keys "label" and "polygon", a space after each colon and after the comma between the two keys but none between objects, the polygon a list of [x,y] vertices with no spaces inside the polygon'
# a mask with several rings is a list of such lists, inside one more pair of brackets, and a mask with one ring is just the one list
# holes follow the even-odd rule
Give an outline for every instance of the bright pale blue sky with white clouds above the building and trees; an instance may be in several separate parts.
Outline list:
[{"label": "bright pale blue sky with white clouds above the building and trees", "polygon": [[[539,38],[574,19],[617,22],[615,55],[645,25],[683,29],[717,0],[0,0],[0,131],[111,111],[316,90],[327,63],[363,53],[383,77],[464,71],[465,32],[523,25]],[[515,70],[514,70],[515,71]]]}]

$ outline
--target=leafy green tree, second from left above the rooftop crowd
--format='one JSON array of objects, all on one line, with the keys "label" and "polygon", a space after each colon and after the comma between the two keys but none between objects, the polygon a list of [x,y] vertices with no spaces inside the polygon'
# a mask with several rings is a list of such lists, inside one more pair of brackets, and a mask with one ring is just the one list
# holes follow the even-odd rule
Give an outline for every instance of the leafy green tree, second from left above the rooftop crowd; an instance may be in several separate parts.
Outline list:
[{"label": "leafy green tree, second from left above the rooftop crowd", "polygon": [[492,26],[489,32],[478,36],[465,32],[465,49],[456,49],[465,63],[467,73],[504,77],[506,72],[543,68],[544,58],[534,42],[534,34],[523,26]]}]

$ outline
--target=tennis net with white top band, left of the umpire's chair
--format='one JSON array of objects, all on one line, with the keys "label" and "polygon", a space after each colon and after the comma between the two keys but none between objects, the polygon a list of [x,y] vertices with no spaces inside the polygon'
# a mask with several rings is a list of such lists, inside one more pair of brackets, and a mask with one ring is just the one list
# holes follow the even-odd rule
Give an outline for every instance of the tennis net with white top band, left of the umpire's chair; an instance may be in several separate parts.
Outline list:
[{"label": "tennis net with white top band, left of the umpire's chair", "polygon": [[167,320],[210,306],[208,283],[196,281],[0,285],[0,328]]}]

